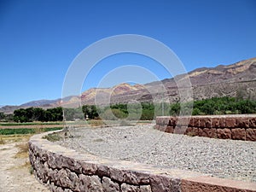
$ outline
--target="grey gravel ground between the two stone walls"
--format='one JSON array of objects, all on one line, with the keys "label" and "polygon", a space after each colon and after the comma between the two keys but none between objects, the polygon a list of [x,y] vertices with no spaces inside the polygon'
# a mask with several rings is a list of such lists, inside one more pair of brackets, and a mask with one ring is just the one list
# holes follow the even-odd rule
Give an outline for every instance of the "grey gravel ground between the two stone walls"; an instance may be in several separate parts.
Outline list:
[{"label": "grey gravel ground between the two stone walls", "polygon": [[188,137],[153,125],[83,128],[58,142],[106,158],[169,166],[256,183],[256,143]]}]

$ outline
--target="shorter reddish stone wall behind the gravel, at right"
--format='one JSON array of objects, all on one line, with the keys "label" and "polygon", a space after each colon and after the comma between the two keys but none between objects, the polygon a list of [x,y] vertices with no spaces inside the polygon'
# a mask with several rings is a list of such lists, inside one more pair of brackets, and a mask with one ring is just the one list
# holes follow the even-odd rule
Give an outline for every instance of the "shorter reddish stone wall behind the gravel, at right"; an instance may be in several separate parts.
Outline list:
[{"label": "shorter reddish stone wall behind the gravel, at right", "polygon": [[168,133],[256,141],[256,114],[157,117],[155,128]]}]

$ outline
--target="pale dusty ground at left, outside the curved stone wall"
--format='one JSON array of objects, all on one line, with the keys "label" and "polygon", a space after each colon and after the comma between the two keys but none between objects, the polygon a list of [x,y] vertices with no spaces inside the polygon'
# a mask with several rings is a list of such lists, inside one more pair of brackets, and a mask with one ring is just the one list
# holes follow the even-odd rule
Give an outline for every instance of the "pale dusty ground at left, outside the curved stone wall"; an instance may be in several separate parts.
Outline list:
[{"label": "pale dusty ground at left, outside the curved stone wall", "polygon": [[26,151],[28,137],[4,140],[0,144],[0,192],[49,192],[30,173]]}]

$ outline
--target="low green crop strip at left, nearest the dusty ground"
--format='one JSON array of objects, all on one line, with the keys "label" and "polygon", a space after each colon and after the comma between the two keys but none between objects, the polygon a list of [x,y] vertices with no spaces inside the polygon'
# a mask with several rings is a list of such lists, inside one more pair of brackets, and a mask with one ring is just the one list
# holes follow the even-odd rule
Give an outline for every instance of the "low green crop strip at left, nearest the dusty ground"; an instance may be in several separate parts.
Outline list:
[{"label": "low green crop strip at left, nearest the dusty ground", "polygon": [[53,127],[53,128],[15,128],[15,129],[0,129],[0,135],[16,135],[16,134],[35,134],[46,131],[56,131],[61,130],[61,127]]}]

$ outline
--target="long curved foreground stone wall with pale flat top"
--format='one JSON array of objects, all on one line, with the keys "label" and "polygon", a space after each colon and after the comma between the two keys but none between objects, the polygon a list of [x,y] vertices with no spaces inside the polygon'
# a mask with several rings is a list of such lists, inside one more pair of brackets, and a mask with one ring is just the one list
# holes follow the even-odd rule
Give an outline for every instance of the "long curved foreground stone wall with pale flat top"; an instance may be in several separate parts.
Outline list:
[{"label": "long curved foreground stone wall with pale flat top", "polygon": [[35,177],[51,191],[256,191],[256,183],[80,154],[44,139],[47,134],[31,137],[29,158]]}]

